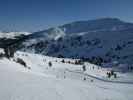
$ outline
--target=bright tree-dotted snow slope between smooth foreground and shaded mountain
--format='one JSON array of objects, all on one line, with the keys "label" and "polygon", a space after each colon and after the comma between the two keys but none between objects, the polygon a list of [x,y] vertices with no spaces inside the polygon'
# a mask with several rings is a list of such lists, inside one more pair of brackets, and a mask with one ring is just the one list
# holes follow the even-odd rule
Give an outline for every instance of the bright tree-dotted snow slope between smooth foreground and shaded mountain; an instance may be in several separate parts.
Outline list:
[{"label": "bright tree-dotted snow slope between smooth foreground and shaded mountain", "polygon": [[[90,64],[88,62],[75,64],[78,59],[62,59],[56,57],[48,57],[38,54],[30,54],[24,52],[17,52],[15,54],[15,59],[21,58],[23,59],[27,67],[29,67],[33,72],[39,73],[47,73],[52,74],[56,77],[69,77],[69,71],[74,72],[75,74],[87,74],[102,80],[116,81],[116,82],[131,82],[133,83],[133,73],[122,73],[117,71],[117,78],[113,76],[111,78],[107,77],[107,72],[111,70],[111,68],[102,68],[100,66]],[[52,66],[49,66],[49,62],[52,63]],[[86,71],[83,71],[83,65],[86,66]],[[116,67],[117,68],[117,67]],[[115,68],[113,69],[115,71]],[[64,75],[65,72],[65,75]],[[68,72],[66,74],[66,72]],[[82,78],[81,78],[82,79]]]}]

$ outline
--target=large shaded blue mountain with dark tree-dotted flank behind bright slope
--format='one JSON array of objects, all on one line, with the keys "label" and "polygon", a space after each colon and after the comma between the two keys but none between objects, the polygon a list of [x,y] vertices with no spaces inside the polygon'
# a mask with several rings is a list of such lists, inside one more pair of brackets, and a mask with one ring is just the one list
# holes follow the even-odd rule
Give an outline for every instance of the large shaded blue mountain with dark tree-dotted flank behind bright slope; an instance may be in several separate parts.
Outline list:
[{"label": "large shaded blue mountain with dark tree-dotted flank behind bright slope", "polygon": [[56,57],[132,63],[133,24],[117,18],[73,22],[29,35],[22,50]]}]

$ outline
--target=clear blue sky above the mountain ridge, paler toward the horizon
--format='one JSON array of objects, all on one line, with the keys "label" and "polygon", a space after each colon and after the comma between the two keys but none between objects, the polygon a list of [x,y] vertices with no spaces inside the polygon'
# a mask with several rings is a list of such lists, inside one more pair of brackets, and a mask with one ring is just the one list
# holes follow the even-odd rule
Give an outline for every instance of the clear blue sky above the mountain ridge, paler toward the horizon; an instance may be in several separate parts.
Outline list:
[{"label": "clear blue sky above the mountain ridge, paler toward the horizon", "polygon": [[38,31],[102,17],[133,22],[133,0],[0,0],[4,31]]}]

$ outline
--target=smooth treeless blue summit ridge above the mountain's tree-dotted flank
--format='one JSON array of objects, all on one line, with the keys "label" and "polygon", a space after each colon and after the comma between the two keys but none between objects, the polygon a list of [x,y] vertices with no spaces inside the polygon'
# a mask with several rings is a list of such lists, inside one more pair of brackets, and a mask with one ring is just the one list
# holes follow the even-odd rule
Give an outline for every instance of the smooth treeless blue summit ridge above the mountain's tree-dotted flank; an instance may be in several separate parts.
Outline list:
[{"label": "smooth treeless blue summit ridge above the mountain's tree-dotted flank", "polygon": [[104,31],[112,29],[120,29],[120,27],[128,27],[127,23],[121,21],[118,18],[100,18],[88,21],[76,21],[69,24],[59,26],[61,29],[65,29],[66,33],[80,33],[90,31]]}]

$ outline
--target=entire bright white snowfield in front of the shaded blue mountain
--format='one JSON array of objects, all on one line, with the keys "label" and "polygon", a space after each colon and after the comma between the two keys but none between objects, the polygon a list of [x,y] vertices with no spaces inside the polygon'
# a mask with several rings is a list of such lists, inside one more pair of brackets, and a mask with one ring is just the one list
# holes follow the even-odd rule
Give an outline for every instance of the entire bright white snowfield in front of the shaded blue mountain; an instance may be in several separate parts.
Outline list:
[{"label": "entire bright white snowfield in front of the shaded blue mountain", "polygon": [[91,64],[82,72],[81,65],[62,63],[57,58],[22,52],[17,52],[14,59],[18,57],[29,69],[13,59],[0,59],[0,100],[133,100],[133,84],[89,77],[86,74],[105,79],[104,72],[96,73],[98,70],[93,71]]}]

